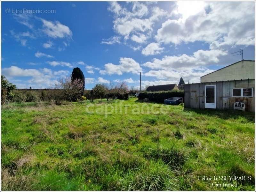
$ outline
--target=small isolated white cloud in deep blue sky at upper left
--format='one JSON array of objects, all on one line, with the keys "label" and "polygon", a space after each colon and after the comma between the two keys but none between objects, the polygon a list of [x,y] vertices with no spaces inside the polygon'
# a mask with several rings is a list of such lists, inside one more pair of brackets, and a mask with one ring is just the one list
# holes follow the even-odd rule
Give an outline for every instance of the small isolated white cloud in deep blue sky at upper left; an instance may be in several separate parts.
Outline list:
[{"label": "small isolated white cloud in deep blue sky at upper left", "polygon": [[64,38],[71,37],[72,31],[68,26],[61,24],[59,21],[47,21],[43,18],[40,18],[43,22],[43,32],[52,38]]}]

